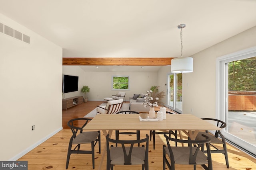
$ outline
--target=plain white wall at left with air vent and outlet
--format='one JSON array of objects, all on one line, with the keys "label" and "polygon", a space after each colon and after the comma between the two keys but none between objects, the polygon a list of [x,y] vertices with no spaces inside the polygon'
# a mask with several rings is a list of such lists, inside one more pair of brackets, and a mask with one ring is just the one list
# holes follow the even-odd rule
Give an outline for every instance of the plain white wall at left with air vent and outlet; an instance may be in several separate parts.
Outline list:
[{"label": "plain white wall at left with air vent and outlet", "polygon": [[0,33],[0,160],[17,160],[62,129],[62,48],[2,14],[0,22],[30,36],[27,44]]}]

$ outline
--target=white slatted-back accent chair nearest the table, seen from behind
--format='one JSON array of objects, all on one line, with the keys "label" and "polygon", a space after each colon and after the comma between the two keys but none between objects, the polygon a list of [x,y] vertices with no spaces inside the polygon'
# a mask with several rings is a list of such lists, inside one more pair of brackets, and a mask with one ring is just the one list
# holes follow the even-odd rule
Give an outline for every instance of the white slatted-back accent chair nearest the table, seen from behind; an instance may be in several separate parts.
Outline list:
[{"label": "white slatted-back accent chair nearest the table, seen from behind", "polygon": [[97,106],[97,114],[114,114],[122,109],[123,99],[110,100],[106,106]]}]

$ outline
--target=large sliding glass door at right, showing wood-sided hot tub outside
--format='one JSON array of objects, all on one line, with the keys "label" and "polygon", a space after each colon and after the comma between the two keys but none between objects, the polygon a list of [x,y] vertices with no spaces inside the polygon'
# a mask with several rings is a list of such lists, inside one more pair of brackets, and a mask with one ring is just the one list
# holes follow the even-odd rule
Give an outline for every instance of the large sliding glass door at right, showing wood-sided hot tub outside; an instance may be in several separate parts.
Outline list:
[{"label": "large sliding glass door at right, showing wood-sided hot tub outside", "polygon": [[256,155],[256,52],[219,62],[220,118],[223,135]]}]

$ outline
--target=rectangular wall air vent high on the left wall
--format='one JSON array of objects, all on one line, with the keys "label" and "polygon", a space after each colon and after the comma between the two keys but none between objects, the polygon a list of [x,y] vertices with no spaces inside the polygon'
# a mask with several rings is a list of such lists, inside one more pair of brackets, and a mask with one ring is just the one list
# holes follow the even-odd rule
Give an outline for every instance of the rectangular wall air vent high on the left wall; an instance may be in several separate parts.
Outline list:
[{"label": "rectangular wall air vent high on the left wall", "polygon": [[25,35],[24,33],[17,31],[16,29],[14,30],[13,28],[8,27],[7,25],[4,25],[3,23],[0,23],[0,32],[4,33],[6,35],[10,35],[20,41],[30,44],[30,37],[28,35]]}]

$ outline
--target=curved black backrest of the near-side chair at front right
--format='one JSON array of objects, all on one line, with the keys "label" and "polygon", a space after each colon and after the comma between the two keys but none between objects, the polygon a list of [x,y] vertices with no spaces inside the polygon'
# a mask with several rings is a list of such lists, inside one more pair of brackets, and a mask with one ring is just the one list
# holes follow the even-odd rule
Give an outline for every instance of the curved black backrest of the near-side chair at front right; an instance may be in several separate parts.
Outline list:
[{"label": "curved black backrest of the near-side chair at front right", "polygon": [[[174,141],[174,142],[178,142],[178,143],[188,143],[188,147],[189,147],[189,164],[196,164],[196,156],[200,150],[200,147],[202,146],[202,144],[206,144],[207,147],[207,155],[208,155],[208,162],[212,162],[212,157],[211,157],[211,152],[210,152],[210,141],[211,139],[206,136],[206,135],[202,135],[203,137],[205,137],[205,140],[181,140],[181,139],[175,139],[172,137],[168,137],[166,134],[164,134],[164,137],[166,138],[166,143],[168,145],[168,150],[170,151],[170,157],[171,157],[171,161],[174,161],[174,153],[172,152],[172,147],[170,146],[169,141]],[[194,144],[198,144],[196,147],[194,146]],[[196,148],[196,149],[195,149]]]}]

